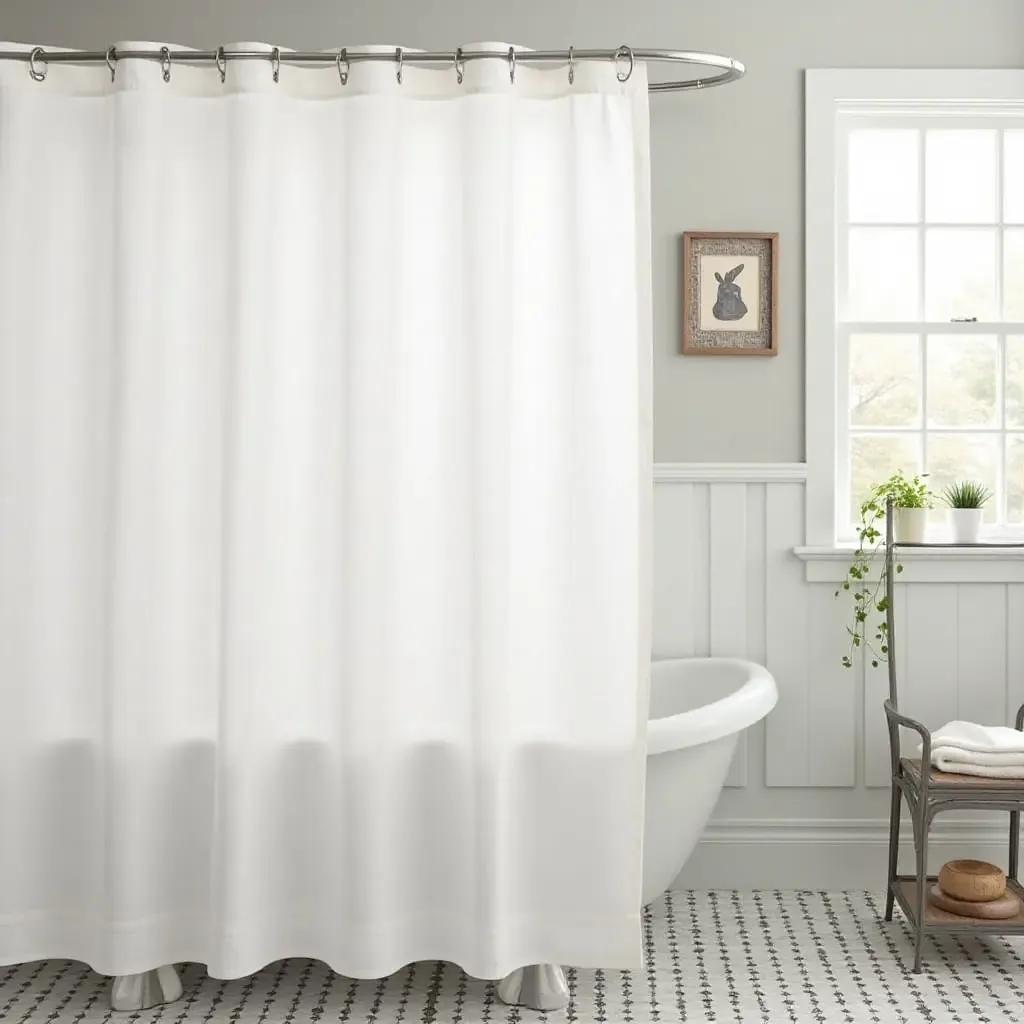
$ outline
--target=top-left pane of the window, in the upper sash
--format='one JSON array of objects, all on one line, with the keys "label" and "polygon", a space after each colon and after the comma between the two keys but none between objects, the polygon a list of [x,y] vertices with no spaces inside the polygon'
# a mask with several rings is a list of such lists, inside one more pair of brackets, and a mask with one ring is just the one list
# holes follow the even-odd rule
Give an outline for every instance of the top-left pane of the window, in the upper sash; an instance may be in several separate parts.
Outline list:
[{"label": "top-left pane of the window, in the upper sash", "polygon": [[850,132],[848,194],[851,221],[916,223],[920,182],[914,129]]}]

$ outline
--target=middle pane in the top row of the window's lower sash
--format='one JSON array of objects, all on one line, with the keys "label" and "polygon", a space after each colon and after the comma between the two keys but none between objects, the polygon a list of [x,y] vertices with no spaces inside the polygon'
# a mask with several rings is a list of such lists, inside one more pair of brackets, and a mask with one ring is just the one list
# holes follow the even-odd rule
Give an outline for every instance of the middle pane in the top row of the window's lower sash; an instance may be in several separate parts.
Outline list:
[{"label": "middle pane in the top row of the window's lower sash", "polygon": [[997,425],[996,355],[991,335],[929,335],[928,425]]}]

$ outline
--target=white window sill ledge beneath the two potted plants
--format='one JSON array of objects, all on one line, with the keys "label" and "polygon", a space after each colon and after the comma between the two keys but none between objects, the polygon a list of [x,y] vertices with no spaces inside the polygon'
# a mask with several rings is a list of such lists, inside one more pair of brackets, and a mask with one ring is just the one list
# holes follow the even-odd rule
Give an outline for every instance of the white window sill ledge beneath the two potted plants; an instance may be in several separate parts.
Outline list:
[{"label": "white window sill ledge beneath the two potted plants", "polygon": [[[808,583],[842,583],[856,546],[794,548]],[[1024,584],[1024,547],[900,548],[900,583]],[[880,551],[873,562],[882,565]]]}]

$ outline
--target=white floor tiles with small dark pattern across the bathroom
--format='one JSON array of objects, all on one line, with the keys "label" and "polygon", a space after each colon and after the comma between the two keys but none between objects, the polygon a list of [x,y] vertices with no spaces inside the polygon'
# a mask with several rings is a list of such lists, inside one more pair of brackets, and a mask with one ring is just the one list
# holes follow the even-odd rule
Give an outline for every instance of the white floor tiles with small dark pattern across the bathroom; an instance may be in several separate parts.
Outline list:
[{"label": "white floor tiles with small dark pattern across the bathroom", "polygon": [[352,982],[315,961],[272,964],[216,981],[184,967],[177,1002],[111,1014],[110,983],[83,965],[0,968],[8,1024],[653,1024],[715,1021],[962,1022],[1024,1020],[1024,940],[927,940],[925,973],[906,965],[910,936],[882,921],[874,893],[678,892],[645,921],[646,968],[573,971],[566,1011],[498,1002],[493,986],[450,965],[417,964],[380,982]]}]

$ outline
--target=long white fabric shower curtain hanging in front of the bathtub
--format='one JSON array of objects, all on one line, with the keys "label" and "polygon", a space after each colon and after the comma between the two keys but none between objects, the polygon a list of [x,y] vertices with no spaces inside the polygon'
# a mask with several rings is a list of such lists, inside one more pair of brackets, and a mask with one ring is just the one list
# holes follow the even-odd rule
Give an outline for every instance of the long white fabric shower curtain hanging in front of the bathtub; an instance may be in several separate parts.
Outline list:
[{"label": "long white fabric shower curtain hanging in front of the bathtub", "polygon": [[644,69],[410,60],[0,61],[0,963],[639,965]]}]

